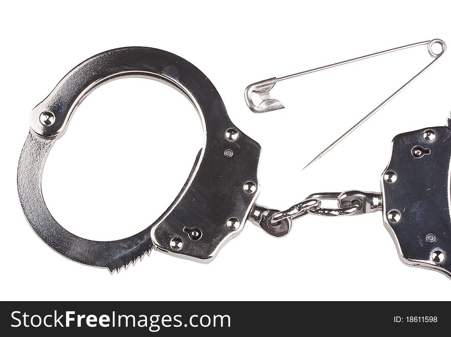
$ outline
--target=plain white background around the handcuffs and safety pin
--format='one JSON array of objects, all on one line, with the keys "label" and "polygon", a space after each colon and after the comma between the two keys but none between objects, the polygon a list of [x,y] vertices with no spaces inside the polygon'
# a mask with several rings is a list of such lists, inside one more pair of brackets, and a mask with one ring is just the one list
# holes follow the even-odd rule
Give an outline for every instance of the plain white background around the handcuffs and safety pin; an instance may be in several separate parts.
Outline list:
[{"label": "plain white background around the handcuffs and safety pin", "polygon": [[[248,223],[203,265],[153,251],[110,275],[48,248],[20,208],[16,167],[29,113],[70,69],[111,48],[148,46],[195,64],[232,121],[260,143],[258,203],[285,208],[319,191],[379,191],[398,133],[444,125],[451,55],[313,166],[320,150],[426,66],[425,47],[281,82],[286,109],[253,114],[250,83],[441,38],[449,1],[7,2],[2,5],[0,143],[2,300],[450,300],[444,275],[404,266],[382,213],[308,216],[274,239]],[[87,128],[95,132],[86,132]],[[151,224],[171,203],[202,146],[194,108],[144,79],[95,90],[55,144],[43,177],[55,219],[113,240]]]}]

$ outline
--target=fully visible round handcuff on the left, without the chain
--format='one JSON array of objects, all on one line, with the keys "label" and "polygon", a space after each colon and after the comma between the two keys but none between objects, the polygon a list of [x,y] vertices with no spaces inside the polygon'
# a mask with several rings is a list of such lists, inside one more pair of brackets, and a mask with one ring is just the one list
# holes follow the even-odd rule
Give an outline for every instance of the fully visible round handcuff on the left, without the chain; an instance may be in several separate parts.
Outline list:
[{"label": "fully visible round handcuff on the left, without the chain", "polygon": [[[201,118],[204,146],[185,186],[152,225],[122,240],[86,240],[60,226],[47,209],[41,190],[42,171],[53,143],[63,135],[76,106],[100,84],[125,76],[161,81],[189,98]],[[198,261],[211,260],[224,243],[241,232],[258,195],[260,146],[233,125],[207,76],[167,51],[127,47],[95,55],[71,70],[33,109],[30,118],[31,130],[17,172],[20,203],[40,238],[73,261],[114,271],[134,263],[152,247]],[[239,134],[233,142],[224,137],[231,129]],[[92,132],[95,126],[87,126],[81,136]],[[127,127],[118,132],[127,136],[133,130]],[[228,149],[233,157],[223,155]],[[250,193],[243,190],[247,182],[253,184]],[[240,223],[234,231],[224,225],[231,217]],[[197,228],[202,234],[190,235],[184,231],[186,228]]]}]

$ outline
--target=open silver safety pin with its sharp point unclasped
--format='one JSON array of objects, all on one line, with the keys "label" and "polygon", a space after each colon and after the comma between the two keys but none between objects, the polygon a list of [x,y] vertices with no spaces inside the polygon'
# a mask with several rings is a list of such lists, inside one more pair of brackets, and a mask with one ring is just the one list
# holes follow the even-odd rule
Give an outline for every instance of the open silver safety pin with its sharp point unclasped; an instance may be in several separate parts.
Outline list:
[{"label": "open silver safety pin with its sharp point unclasped", "polygon": [[[437,43],[441,46],[441,51],[439,53],[435,53],[432,50],[432,45],[434,45],[435,43]],[[356,58],[351,58],[350,60],[333,63],[333,64],[330,64],[327,66],[314,68],[314,69],[298,72],[298,73],[283,76],[283,77],[269,78],[268,80],[256,82],[256,83],[253,83],[250,86],[248,86],[244,91],[244,99],[245,99],[246,104],[248,105],[249,109],[251,109],[255,113],[283,109],[284,106],[282,105],[282,103],[280,103],[277,100],[274,100],[274,98],[270,98],[270,90],[274,87],[274,85],[277,82],[289,80],[290,78],[293,78],[293,77],[310,74],[310,73],[317,72],[320,70],[325,70],[325,69],[329,69],[329,68],[333,68],[333,67],[342,66],[342,65],[345,65],[348,63],[365,60],[366,58],[371,58],[371,57],[375,57],[375,56],[379,56],[379,55],[383,55],[383,54],[387,54],[387,53],[392,53],[392,52],[407,49],[407,48],[413,48],[413,47],[424,46],[424,45],[427,45],[427,51],[429,52],[429,55],[434,58],[434,60],[432,62],[430,62],[426,67],[424,67],[418,74],[416,74],[409,81],[407,81],[402,87],[400,87],[393,94],[391,94],[385,101],[383,101],[381,104],[379,104],[374,110],[372,110],[370,113],[368,113],[366,116],[364,116],[351,129],[349,129],[345,133],[343,133],[335,142],[333,142],[331,145],[329,145],[327,148],[325,148],[321,153],[319,153],[315,158],[313,158],[313,160],[303,168],[303,169],[305,169],[306,167],[309,167],[310,165],[315,163],[324,154],[329,152],[333,147],[335,147],[338,143],[340,143],[345,137],[350,135],[355,129],[357,129],[360,125],[362,125],[364,122],[366,122],[368,120],[368,118],[370,118],[377,111],[379,111],[385,104],[387,104],[389,101],[391,101],[393,97],[395,97],[402,90],[404,90],[409,84],[411,84],[413,81],[415,81],[416,78],[419,77],[423,72],[425,72],[427,69],[429,69],[440,58],[440,56],[442,56],[445,53],[446,44],[441,39],[435,38],[435,39],[432,39],[429,41],[418,42],[418,43],[414,43],[414,44],[410,44],[410,45],[406,45],[406,46],[402,46],[402,47],[387,49],[387,50],[380,51],[380,52],[373,53],[373,54],[368,54],[368,55],[364,55],[364,56],[360,56],[360,57],[356,57]],[[252,94],[254,92],[257,93],[262,100],[262,102],[259,105],[255,105],[254,102],[252,101]]]}]

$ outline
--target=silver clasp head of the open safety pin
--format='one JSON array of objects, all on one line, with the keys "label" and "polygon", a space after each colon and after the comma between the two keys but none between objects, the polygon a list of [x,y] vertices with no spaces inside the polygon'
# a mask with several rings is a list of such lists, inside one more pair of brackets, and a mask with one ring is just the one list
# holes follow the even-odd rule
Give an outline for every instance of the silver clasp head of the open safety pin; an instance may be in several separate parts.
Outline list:
[{"label": "silver clasp head of the open safety pin", "polygon": [[[244,99],[252,112],[261,113],[285,108],[280,101],[270,98],[270,91],[275,86],[276,82],[276,77],[268,78],[268,80],[253,83],[244,90]],[[254,92],[261,98],[261,103],[259,105],[255,105],[252,101],[252,94]]]}]

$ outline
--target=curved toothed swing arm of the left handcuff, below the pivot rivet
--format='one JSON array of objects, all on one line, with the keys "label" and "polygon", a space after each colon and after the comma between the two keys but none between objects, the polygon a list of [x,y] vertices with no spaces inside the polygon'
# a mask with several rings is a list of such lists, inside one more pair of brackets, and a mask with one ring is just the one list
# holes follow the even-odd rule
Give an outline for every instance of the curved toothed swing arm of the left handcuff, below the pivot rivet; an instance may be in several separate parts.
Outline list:
[{"label": "curved toothed swing arm of the left handcuff, below the pivot rivet", "polygon": [[92,241],[72,234],[60,226],[48,210],[42,194],[42,172],[55,139],[30,132],[20,154],[17,187],[20,204],[36,234],[52,249],[70,260],[113,272],[134,264],[152,249],[150,230],[126,239]]}]

